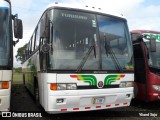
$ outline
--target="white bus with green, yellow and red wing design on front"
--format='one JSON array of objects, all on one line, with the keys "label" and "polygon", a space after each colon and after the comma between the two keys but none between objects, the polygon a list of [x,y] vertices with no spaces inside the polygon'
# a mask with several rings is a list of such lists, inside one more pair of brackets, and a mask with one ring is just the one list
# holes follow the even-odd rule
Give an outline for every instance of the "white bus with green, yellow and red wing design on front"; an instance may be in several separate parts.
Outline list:
[{"label": "white bus with green, yellow and red wing design on front", "polygon": [[24,83],[50,114],[126,107],[133,96],[132,58],[123,16],[53,3],[24,50]]}]

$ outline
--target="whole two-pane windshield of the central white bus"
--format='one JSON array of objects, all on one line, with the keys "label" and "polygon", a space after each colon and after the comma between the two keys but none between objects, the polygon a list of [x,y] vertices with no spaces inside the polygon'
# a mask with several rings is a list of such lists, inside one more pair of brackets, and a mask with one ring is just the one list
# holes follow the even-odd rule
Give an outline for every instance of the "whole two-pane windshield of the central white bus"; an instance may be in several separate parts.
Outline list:
[{"label": "whole two-pane windshield of the central white bus", "polygon": [[51,13],[49,69],[77,70],[83,64],[82,70],[133,70],[125,20],[60,9]]}]

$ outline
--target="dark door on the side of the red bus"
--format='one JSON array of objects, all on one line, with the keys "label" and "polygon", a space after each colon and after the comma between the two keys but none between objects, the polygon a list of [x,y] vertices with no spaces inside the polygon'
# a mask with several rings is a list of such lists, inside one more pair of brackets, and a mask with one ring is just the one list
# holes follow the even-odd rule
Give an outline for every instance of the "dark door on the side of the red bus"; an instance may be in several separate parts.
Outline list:
[{"label": "dark door on the side of the red bus", "polygon": [[[135,34],[132,34],[132,40]],[[135,64],[135,91],[137,91],[137,99],[146,99],[147,92],[147,70],[146,70],[146,56],[145,56],[145,43],[143,41],[133,40],[134,50],[134,64]]]}]

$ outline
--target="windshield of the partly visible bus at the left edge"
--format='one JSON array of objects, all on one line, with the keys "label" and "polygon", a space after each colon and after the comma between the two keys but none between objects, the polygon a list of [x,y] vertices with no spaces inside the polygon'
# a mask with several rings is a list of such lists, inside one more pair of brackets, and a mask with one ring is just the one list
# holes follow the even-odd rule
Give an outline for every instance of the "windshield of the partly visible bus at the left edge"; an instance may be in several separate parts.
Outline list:
[{"label": "windshield of the partly visible bus at the left edge", "polygon": [[6,66],[9,62],[9,11],[8,7],[0,6],[0,66]]}]

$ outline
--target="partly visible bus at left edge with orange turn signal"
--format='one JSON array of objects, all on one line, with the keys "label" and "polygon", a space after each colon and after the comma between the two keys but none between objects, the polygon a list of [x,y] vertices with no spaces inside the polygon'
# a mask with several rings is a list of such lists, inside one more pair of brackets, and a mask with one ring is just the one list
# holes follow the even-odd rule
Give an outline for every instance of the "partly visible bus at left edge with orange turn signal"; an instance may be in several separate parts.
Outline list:
[{"label": "partly visible bus at left edge with orange turn signal", "polygon": [[[12,20],[14,36],[12,37]],[[11,14],[10,0],[0,0],[0,112],[10,110],[13,46],[22,38],[22,21]]]}]

